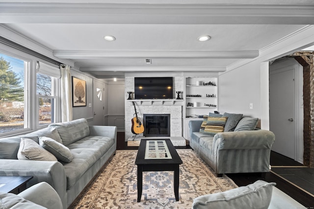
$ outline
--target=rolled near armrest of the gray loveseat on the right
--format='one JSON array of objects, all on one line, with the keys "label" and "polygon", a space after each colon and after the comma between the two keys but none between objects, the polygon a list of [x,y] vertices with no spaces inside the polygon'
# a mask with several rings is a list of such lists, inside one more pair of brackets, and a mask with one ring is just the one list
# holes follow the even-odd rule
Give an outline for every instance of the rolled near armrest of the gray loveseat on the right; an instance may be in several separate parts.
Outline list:
[{"label": "rolled near armrest of the gray loveseat on the right", "polygon": [[217,149],[270,149],[275,135],[267,130],[236,131],[218,133],[213,138]]}]

